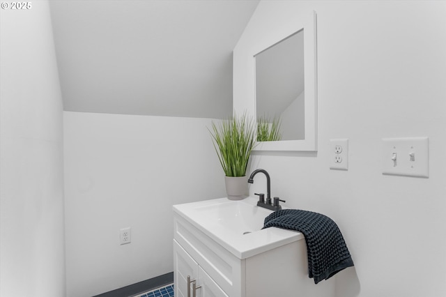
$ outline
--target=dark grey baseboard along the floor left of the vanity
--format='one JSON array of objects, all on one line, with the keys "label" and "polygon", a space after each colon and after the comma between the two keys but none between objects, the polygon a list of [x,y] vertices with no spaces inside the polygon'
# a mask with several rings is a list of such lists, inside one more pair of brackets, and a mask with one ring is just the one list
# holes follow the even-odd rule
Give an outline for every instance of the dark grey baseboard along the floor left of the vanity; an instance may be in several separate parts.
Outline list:
[{"label": "dark grey baseboard along the floor left of the vanity", "polygon": [[102,293],[93,297],[135,296],[138,294],[142,294],[146,291],[151,291],[159,287],[164,287],[164,285],[171,284],[172,282],[174,282],[174,272],[159,275],[149,280],[143,280],[142,282],[137,282],[136,284],[130,284],[130,286]]}]

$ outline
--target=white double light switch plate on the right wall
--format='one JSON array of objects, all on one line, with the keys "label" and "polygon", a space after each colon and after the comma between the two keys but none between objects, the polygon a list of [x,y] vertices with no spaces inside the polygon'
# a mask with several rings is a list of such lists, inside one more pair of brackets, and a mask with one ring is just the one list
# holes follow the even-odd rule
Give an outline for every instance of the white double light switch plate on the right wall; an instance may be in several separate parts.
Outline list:
[{"label": "white double light switch plate on the right wall", "polygon": [[429,138],[383,138],[383,174],[429,177]]}]

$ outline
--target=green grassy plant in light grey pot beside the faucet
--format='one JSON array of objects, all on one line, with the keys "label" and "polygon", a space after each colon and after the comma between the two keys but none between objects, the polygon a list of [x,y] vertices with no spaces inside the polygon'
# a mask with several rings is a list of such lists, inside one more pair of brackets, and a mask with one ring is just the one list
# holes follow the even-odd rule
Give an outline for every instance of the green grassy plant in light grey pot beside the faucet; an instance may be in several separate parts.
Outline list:
[{"label": "green grassy plant in light grey pot beside the faucet", "polygon": [[222,165],[226,183],[226,194],[231,200],[247,197],[246,169],[251,151],[256,146],[255,126],[247,114],[212,123],[210,134],[218,159]]}]

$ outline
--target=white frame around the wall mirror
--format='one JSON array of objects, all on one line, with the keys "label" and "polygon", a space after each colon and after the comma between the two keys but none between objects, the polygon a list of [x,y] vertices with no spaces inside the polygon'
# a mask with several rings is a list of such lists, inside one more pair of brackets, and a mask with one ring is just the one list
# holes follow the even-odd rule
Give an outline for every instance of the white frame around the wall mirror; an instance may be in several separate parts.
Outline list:
[{"label": "white frame around the wall mirror", "polygon": [[[302,22],[293,28],[281,31],[275,39],[266,40],[252,49],[252,71],[254,73],[254,96],[251,106],[256,115],[255,96],[255,58],[256,54],[304,29],[304,67],[305,67],[305,139],[282,140],[278,142],[258,142],[254,151],[317,151],[317,59],[316,59],[316,12],[303,17]],[[279,38],[277,36],[279,35]],[[262,46],[263,45],[263,46]],[[267,45],[267,46],[265,46]],[[254,116],[255,118],[255,116]],[[256,121],[256,119],[254,119]]]}]

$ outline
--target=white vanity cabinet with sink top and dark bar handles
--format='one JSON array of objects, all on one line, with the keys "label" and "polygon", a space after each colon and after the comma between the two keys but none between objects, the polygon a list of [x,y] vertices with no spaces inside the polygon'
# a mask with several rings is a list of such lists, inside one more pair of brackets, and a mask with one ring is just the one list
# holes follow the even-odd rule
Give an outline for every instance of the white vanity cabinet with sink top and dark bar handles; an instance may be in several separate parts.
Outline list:
[{"label": "white vanity cabinet with sink top and dark bar handles", "polygon": [[[257,210],[255,203],[255,199],[214,199],[174,206],[176,297],[192,297],[194,286],[196,297],[332,296],[332,283],[315,285],[308,277],[302,234],[277,228],[261,230],[263,222],[251,233],[243,232],[249,224],[239,228],[249,215],[264,211]],[[226,207],[232,204],[237,218],[229,220],[231,212]],[[209,215],[211,209],[218,210]]]}]

